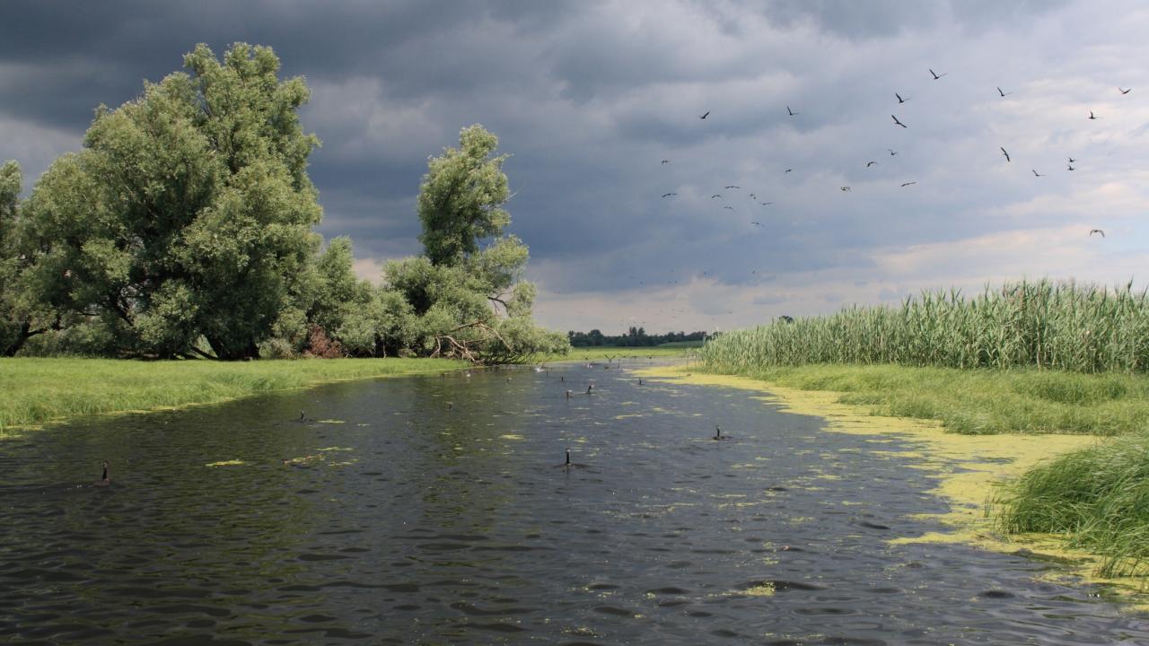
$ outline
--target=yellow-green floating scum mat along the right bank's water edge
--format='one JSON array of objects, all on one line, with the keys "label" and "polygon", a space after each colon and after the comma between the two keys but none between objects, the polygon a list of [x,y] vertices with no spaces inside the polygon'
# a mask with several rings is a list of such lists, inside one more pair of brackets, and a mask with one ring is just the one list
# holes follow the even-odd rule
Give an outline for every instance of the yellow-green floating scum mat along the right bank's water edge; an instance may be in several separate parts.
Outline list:
[{"label": "yellow-green floating scum mat along the right bank's water edge", "polygon": [[[1081,434],[959,434],[946,432],[941,423],[911,417],[873,415],[865,406],[842,403],[845,393],[807,391],[734,375],[699,372],[696,368],[670,366],[635,369],[650,380],[701,386],[733,387],[761,393],[755,399],[794,415],[825,420],[825,430],[871,436],[876,456],[902,460],[938,478],[931,493],[949,501],[946,514],[924,514],[948,528],[918,537],[890,539],[893,545],[955,543],[1005,554],[1025,554],[1051,564],[1041,578],[1055,583],[1098,584],[1129,603],[1135,612],[1149,612],[1149,599],[1140,577],[1104,578],[1096,575],[1103,556],[1071,549],[1052,535],[1003,535],[996,531],[992,505],[996,489],[1036,464],[1065,453],[1092,446],[1104,438]],[[884,452],[880,445],[909,441],[915,451]]]}]

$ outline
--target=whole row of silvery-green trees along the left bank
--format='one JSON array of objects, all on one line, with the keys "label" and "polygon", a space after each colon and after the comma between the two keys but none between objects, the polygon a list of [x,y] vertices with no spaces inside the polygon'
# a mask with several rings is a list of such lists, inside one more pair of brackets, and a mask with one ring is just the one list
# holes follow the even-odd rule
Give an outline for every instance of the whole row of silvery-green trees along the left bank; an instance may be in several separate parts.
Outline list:
[{"label": "whole row of silvery-green trees along the left bank", "polygon": [[[348,238],[323,243],[298,111],[302,78],[269,47],[199,45],[185,71],[100,106],[83,149],[21,201],[0,168],[0,352],[254,359],[355,354],[522,360],[566,346],[534,325],[527,248],[504,233],[498,138],[463,129],[432,157],[425,254],[358,279]],[[46,334],[45,332],[52,332]]]}]

